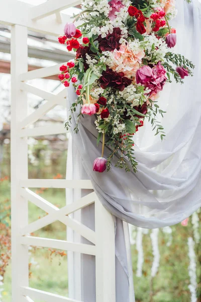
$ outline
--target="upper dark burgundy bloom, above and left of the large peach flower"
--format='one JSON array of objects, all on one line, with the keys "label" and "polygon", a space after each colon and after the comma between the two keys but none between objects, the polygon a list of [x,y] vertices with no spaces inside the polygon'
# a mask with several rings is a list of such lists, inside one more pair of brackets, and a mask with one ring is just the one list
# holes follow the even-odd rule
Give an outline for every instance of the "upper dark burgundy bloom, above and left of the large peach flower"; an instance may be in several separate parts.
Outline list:
[{"label": "upper dark burgundy bloom, above and left of the large peach flower", "polygon": [[112,34],[108,34],[106,38],[102,38],[101,35],[98,37],[99,41],[99,50],[100,51],[112,51],[119,50],[120,48],[120,39],[122,37],[122,32],[119,27],[113,29]]}]

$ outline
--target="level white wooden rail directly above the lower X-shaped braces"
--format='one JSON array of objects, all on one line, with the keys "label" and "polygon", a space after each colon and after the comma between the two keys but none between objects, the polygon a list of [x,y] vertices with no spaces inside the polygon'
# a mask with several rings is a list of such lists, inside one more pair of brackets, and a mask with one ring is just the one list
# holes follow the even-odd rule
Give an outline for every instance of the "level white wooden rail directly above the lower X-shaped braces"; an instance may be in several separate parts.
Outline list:
[{"label": "level white wooden rail directly above the lower X-shaped braces", "polygon": [[69,188],[69,189],[93,189],[90,180],[66,180],[66,179],[24,179],[20,180],[23,188]]}]

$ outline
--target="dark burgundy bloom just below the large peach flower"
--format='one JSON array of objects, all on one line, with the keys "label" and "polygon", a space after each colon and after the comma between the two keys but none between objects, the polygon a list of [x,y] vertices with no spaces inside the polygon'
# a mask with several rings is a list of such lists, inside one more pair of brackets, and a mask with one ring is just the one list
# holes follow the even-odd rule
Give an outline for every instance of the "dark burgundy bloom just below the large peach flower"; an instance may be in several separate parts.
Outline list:
[{"label": "dark burgundy bloom just below the large peach flower", "polygon": [[106,89],[107,87],[112,87],[123,91],[125,87],[131,85],[132,80],[124,76],[124,72],[116,72],[110,68],[107,68],[103,72],[102,77],[99,79],[100,87]]}]

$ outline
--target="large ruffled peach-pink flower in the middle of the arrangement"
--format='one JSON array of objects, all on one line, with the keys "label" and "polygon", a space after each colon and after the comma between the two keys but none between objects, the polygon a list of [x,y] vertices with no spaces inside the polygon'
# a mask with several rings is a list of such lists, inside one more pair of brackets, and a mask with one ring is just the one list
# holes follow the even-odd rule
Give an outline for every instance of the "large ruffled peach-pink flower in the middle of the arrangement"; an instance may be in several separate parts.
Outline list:
[{"label": "large ruffled peach-pink flower in the middle of the arrangement", "polygon": [[133,52],[128,46],[121,45],[119,50],[115,49],[113,52],[114,63],[111,69],[124,72],[127,78],[134,77],[144,56],[143,50]]}]

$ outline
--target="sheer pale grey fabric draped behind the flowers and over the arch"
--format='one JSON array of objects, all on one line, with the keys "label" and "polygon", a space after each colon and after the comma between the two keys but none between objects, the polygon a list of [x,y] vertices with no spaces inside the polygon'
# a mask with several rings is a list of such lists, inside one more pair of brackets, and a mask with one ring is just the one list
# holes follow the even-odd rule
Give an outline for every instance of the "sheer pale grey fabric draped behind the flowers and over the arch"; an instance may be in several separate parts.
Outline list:
[{"label": "sheer pale grey fabric draped behind the flowers and over the arch", "polygon": [[[177,9],[178,15],[171,24],[177,30],[174,51],[194,62],[194,77],[185,78],[182,86],[168,84],[161,93],[159,106],[167,111],[162,120],[166,132],[163,142],[154,136],[146,120],[135,135],[138,172],[116,169],[117,158],[110,172],[93,172],[93,161],[100,157],[102,148],[101,143],[96,146],[94,117],[81,118],[78,134],[71,131],[94,191],[116,217],[117,302],[132,301],[122,221],[142,228],[161,228],[182,221],[201,205],[201,9],[197,0],[192,0],[192,4],[177,0]],[[70,87],[68,108],[75,99]],[[77,113],[72,118],[71,129]],[[105,157],[110,151],[105,148]],[[89,216],[86,219],[89,221]],[[82,300],[95,302],[95,297],[83,295]]]}]

